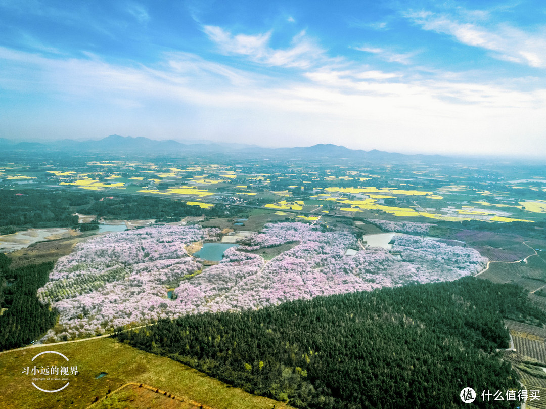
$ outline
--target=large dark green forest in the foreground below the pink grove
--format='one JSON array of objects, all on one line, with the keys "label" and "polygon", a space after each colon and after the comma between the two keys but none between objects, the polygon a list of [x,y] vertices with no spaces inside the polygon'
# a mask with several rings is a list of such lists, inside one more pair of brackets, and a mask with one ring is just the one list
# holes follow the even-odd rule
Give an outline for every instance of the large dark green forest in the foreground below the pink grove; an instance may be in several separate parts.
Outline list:
[{"label": "large dark green forest in the foreground below the pink grove", "polygon": [[465,277],[163,319],[117,336],[300,408],[450,408],[465,405],[465,387],[520,388],[495,352],[508,347],[502,316],[546,322],[520,287]]}]

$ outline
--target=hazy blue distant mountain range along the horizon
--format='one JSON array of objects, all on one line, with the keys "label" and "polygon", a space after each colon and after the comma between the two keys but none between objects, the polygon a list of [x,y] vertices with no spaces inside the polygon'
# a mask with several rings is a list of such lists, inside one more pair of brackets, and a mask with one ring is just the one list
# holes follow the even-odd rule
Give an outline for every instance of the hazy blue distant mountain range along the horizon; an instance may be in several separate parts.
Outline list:
[{"label": "hazy blue distant mountain range along the horizon", "polygon": [[345,146],[333,144],[317,144],[306,147],[264,148],[257,145],[236,143],[215,143],[212,141],[185,140],[182,142],[173,139],[152,140],[143,137],[122,137],[110,135],[99,140],[77,141],[63,139],[51,142],[19,142],[0,138],[0,150],[4,152],[74,152],[74,153],[103,153],[105,155],[125,156],[199,156],[225,154],[234,157],[252,155],[254,157],[294,158],[302,160],[312,159],[367,159],[375,161],[408,161],[424,159],[446,159],[439,155],[404,155],[378,150],[363,151],[348,149]]}]

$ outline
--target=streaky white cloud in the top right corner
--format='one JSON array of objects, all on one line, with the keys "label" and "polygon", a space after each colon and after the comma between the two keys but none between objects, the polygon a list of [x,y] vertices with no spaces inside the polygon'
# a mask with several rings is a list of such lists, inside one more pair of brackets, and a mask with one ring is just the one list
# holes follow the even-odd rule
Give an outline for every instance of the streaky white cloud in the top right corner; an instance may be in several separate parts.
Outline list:
[{"label": "streaky white cloud in the top right corner", "polygon": [[423,29],[451,35],[458,42],[492,51],[499,60],[546,68],[546,25],[533,32],[491,21],[486,11],[458,14],[409,11],[405,16]]}]

